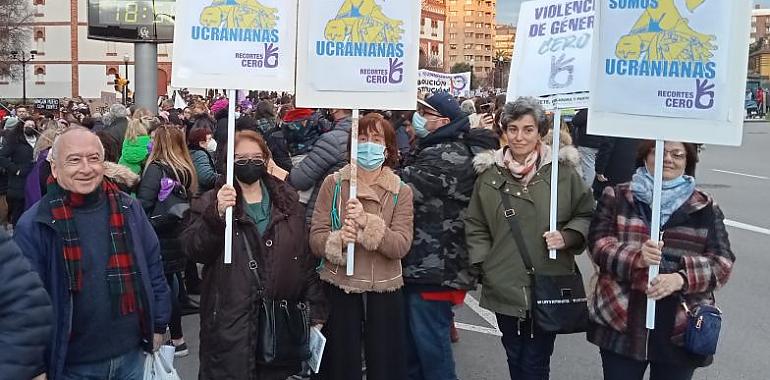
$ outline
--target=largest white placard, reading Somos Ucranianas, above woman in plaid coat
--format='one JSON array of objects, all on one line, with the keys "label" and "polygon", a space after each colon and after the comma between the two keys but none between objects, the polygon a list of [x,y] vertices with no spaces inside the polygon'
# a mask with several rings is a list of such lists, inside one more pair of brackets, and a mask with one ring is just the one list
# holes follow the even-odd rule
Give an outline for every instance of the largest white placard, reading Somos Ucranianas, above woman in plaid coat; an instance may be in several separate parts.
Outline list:
[{"label": "largest white placard, reading Somos Ucranianas, above woman in plaid coat", "polygon": [[740,145],[751,3],[599,2],[588,132]]}]

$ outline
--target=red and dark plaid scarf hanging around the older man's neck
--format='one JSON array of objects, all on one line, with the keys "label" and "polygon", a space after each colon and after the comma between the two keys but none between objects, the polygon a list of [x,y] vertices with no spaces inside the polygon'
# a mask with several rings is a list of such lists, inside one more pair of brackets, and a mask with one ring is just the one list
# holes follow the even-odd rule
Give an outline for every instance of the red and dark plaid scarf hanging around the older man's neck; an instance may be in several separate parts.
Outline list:
[{"label": "red and dark plaid scarf hanging around the older man's neck", "polygon": [[[128,230],[121,208],[120,190],[112,182],[104,180],[101,193],[109,202],[110,247],[112,252],[107,263],[107,286],[112,298],[113,311],[127,315],[142,312],[141,274],[129,248]],[[64,240],[64,263],[69,274],[69,288],[77,293],[83,286],[80,246],[72,208],[82,207],[101,196],[99,190],[92,195],[72,194],[62,189],[53,177],[48,179],[48,194],[51,196],[51,214],[54,229]]]}]

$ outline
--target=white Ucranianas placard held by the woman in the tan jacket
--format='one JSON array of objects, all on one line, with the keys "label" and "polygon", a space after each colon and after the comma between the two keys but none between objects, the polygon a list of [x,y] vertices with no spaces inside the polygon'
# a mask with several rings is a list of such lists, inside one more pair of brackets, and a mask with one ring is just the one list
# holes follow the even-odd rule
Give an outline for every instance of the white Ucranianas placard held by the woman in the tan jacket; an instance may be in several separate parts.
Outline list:
[{"label": "white Ucranianas placard held by the woman in the tan jacket", "polygon": [[420,2],[301,0],[300,107],[415,109]]}]

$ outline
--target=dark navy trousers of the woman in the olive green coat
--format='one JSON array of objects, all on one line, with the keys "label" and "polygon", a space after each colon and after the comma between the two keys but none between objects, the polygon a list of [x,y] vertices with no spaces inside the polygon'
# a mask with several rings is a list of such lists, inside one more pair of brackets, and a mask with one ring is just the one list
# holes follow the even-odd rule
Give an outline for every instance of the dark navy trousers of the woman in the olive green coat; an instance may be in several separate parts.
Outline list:
[{"label": "dark navy trousers of the woman in the olive green coat", "polygon": [[502,314],[496,317],[503,333],[511,380],[548,380],[556,334],[542,332],[537,327],[532,331],[530,319]]}]

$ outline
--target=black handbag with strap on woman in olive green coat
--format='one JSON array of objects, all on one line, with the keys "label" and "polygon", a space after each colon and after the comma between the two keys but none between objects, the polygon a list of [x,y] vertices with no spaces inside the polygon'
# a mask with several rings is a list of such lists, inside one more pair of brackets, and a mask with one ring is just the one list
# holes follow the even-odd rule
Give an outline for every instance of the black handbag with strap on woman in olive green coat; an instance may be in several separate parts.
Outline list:
[{"label": "black handbag with strap on woman in olive green coat", "polygon": [[500,189],[505,206],[505,219],[511,227],[511,233],[519,247],[524,266],[530,277],[532,297],[531,317],[543,331],[556,334],[574,334],[588,329],[588,304],[583,276],[575,265],[574,273],[561,276],[541,275],[535,272],[529,255],[524,235],[516,219],[516,210],[511,200]]}]

